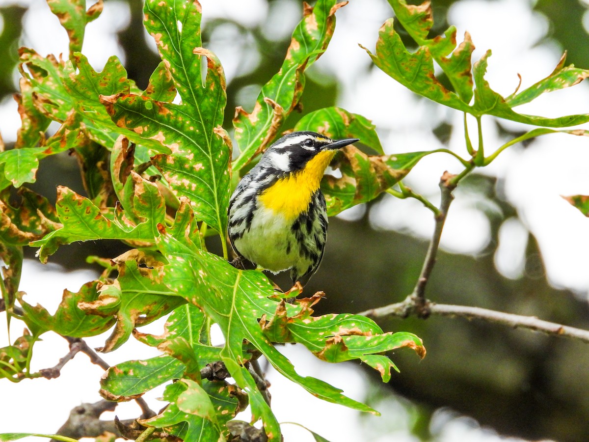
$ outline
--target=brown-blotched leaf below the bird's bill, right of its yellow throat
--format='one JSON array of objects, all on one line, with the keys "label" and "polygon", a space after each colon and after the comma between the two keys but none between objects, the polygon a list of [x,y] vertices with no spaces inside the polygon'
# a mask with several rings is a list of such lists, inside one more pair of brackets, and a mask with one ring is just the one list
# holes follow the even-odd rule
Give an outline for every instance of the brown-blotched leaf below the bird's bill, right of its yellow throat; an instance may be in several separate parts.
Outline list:
[{"label": "brown-blotched leaf below the bird's bill, right of its yellow throat", "polygon": [[347,146],[336,158],[342,176],[326,175],[321,182],[327,215],[333,216],[356,204],[368,202],[403,179],[429,152],[369,156]]}]

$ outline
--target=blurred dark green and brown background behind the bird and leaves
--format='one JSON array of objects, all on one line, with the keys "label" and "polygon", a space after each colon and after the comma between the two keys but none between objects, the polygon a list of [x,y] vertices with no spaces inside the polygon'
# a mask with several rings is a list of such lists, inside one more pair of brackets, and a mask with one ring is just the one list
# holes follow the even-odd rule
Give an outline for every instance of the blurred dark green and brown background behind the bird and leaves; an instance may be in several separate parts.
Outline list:
[{"label": "blurred dark green and brown background behind the bird and leaves", "polygon": [[[109,8],[111,1],[128,5],[130,21],[118,31],[118,42],[129,77],[144,88],[159,58],[145,39],[143,4],[140,0],[106,0],[105,8]],[[454,3],[451,0],[432,2],[436,23],[432,34],[437,35],[448,27],[446,12]],[[1,4],[0,102],[16,92],[16,48],[22,44],[23,17],[27,12],[25,6],[8,1]],[[383,4],[386,4],[384,0]],[[583,25],[588,5],[578,0],[538,0],[530,2],[529,7],[547,19],[549,26],[543,38],[565,48],[568,62],[588,68],[589,35]],[[205,47],[216,51],[220,45],[225,49],[234,46],[236,60],[228,72],[227,84],[225,126],[228,130],[232,110],[237,105],[250,110],[247,103],[254,103],[260,85],[280,68],[289,45],[290,30],[301,11],[301,1],[268,0],[266,19],[254,26],[231,18],[206,21]],[[406,38],[406,34],[403,35]],[[338,90],[339,84],[332,74],[313,67],[307,75],[301,113],[294,113],[284,128],[292,127],[305,113],[336,104]],[[452,126],[444,123],[431,130],[444,143]],[[11,144],[6,144],[10,149]],[[84,193],[74,157],[67,154],[48,157],[41,163],[37,183],[31,187],[54,200],[57,184]],[[428,286],[428,298],[440,303],[535,315],[589,329],[587,302],[547,282],[541,252],[531,234],[525,250],[525,269],[519,278],[507,279],[495,268],[499,229],[508,220],[518,217],[517,210],[498,192],[501,185],[500,179],[482,175],[473,175],[461,184],[457,198],[461,197],[461,192],[474,196],[478,206],[483,208],[482,213],[488,217],[491,239],[476,256],[441,250]],[[322,268],[306,288],[307,293],[327,292],[325,301],[317,306],[317,313],[364,311],[401,301],[411,292],[421,269],[427,240],[402,232],[373,229],[369,214],[377,205],[378,201],[357,211],[354,220],[331,220]],[[106,241],[84,244],[83,248],[74,244],[60,248],[52,262],[72,269],[84,263],[82,252],[111,258],[125,249],[122,244]],[[34,252],[28,250],[29,258],[33,258]],[[401,374],[393,375],[388,385],[368,391],[369,403],[378,403],[390,394],[409,400],[399,399],[406,413],[403,415],[416,437],[435,440],[439,435],[436,436],[432,417],[457,413],[472,417],[479,425],[505,436],[571,442],[589,440],[589,370],[586,370],[589,352],[586,344],[460,318],[431,317],[426,321],[389,318],[379,322],[385,330],[415,332],[428,348],[428,355],[421,362],[413,355],[399,352],[395,361]],[[368,371],[366,375],[374,378],[375,385],[379,384],[377,375]],[[372,431],[367,434],[391,431],[385,423],[380,425],[382,428],[367,428]]]}]

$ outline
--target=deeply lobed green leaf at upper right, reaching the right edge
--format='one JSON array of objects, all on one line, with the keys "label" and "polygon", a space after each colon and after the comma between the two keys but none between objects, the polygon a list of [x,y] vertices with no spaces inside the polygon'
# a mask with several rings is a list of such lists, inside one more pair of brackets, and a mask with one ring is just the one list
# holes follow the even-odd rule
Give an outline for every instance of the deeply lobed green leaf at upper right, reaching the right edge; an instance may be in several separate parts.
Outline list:
[{"label": "deeply lobed green leaf at upper right, reaching the right edge", "polygon": [[[421,5],[407,5],[405,0],[389,0],[389,3],[395,10],[396,17],[418,43],[419,48],[415,53],[406,50],[401,37],[393,28],[391,18],[380,28],[376,54],[366,51],[381,70],[409,90],[436,103],[468,112],[475,117],[489,114],[519,123],[547,127],[575,126],[589,121],[589,114],[545,118],[519,114],[512,110],[512,107],[528,103],[544,92],[579,83],[589,76],[589,71],[574,68],[573,65],[564,67],[564,58],[562,58],[554,72],[544,80],[519,94],[504,98],[492,90],[484,78],[487,71],[487,58],[491,55],[491,51],[487,51],[481,60],[475,62],[471,73],[471,54],[474,45],[468,32],[465,34],[464,42],[454,49],[456,47],[454,27],[450,27],[444,37],[427,38],[433,24],[429,2],[423,2]],[[447,55],[452,50],[454,52],[448,58]],[[447,75],[455,92],[447,90],[436,78],[434,60]],[[469,105],[473,96],[473,78],[474,103]]]}]

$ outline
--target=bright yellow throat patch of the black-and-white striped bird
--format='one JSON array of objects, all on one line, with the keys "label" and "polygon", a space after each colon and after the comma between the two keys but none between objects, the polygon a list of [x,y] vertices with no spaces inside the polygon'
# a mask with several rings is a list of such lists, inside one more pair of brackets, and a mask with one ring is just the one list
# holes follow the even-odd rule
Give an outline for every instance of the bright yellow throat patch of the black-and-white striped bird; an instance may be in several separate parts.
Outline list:
[{"label": "bright yellow throat patch of the black-and-white striped bird", "polygon": [[309,160],[305,169],[278,180],[266,189],[259,201],[287,220],[297,219],[309,207],[311,197],[319,189],[323,173],[336,153],[337,150],[319,152]]}]

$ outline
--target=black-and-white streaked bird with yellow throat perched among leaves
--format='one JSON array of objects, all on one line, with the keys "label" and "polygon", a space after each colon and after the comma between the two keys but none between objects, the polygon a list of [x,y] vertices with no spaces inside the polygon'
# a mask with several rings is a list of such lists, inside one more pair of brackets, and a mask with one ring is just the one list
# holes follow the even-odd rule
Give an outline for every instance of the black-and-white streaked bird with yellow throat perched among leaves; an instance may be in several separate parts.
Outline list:
[{"label": "black-and-white streaked bird with yellow throat perched among leaves", "polygon": [[315,132],[280,138],[244,176],[229,202],[229,239],[239,258],[305,285],[323,257],[325,197],[319,183],[337,149],[358,138]]}]

